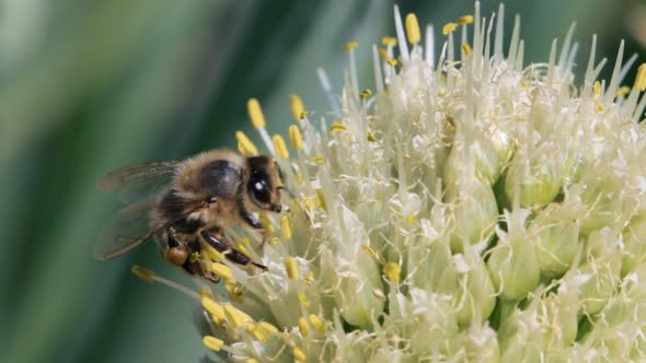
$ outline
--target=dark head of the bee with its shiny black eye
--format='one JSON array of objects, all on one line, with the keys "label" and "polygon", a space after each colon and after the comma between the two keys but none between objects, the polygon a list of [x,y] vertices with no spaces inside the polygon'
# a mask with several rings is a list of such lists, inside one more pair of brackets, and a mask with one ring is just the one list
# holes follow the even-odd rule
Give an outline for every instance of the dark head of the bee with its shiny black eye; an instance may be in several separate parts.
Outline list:
[{"label": "dark head of the bee with its shiny black eye", "polygon": [[246,191],[259,209],[280,212],[280,177],[276,162],[269,156],[251,156],[246,160],[249,182]]}]

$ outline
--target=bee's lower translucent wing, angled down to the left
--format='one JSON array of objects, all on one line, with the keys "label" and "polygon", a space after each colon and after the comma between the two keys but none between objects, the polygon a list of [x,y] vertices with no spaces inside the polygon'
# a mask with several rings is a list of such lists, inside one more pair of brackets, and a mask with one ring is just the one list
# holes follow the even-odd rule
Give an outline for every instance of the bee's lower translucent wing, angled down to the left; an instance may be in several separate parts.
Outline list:
[{"label": "bee's lower translucent wing, angled down to the left", "polygon": [[193,206],[186,202],[177,204],[176,207],[185,209],[185,213],[172,221],[162,221],[154,218],[154,211],[162,207],[168,208],[171,206],[168,203],[163,206],[137,203],[122,209],[99,235],[99,241],[94,246],[94,257],[106,260],[122,256],[187,218],[194,211],[204,208],[204,204],[199,202]]}]

